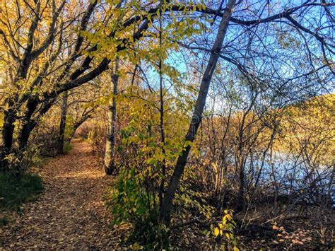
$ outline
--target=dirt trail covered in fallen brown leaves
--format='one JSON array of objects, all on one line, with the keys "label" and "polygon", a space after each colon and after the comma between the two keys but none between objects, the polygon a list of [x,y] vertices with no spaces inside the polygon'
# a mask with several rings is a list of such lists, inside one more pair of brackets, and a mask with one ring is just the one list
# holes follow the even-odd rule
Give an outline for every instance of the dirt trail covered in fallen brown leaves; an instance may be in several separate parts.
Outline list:
[{"label": "dirt trail covered in fallen brown leaves", "polygon": [[0,229],[0,250],[114,247],[102,202],[111,179],[96,164],[88,144],[74,141],[73,145],[69,154],[49,160],[42,168],[45,191]]}]

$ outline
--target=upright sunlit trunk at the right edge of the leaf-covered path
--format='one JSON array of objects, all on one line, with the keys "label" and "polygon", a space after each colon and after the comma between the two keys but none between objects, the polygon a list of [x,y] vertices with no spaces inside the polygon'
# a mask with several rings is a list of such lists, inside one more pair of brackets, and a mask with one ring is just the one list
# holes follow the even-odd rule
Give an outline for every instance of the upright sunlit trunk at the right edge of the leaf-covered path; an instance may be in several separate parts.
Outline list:
[{"label": "upright sunlit trunk at the right edge of the leaf-covered path", "polygon": [[117,119],[117,103],[115,102],[115,95],[117,95],[117,83],[119,81],[119,59],[115,59],[114,67],[112,68],[112,83],[113,83],[113,98],[110,100],[108,109],[108,124],[107,137],[105,147],[104,169],[107,175],[111,175],[114,168],[114,145],[115,145],[115,122]]}]

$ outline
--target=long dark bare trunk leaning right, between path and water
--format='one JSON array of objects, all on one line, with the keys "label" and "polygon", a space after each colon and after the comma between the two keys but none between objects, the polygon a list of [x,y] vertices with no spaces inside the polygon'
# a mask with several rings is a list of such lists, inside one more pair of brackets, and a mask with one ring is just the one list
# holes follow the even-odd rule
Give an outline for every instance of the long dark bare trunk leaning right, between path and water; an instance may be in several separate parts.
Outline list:
[{"label": "long dark bare trunk leaning right, between path and water", "polygon": [[[201,80],[199,95],[196,100],[196,106],[192,115],[192,122],[189,124],[189,130],[184,138],[184,141],[193,142],[196,132],[198,131],[201,122],[201,116],[202,113],[204,112],[206,96],[211,83],[211,78],[213,76],[214,70],[216,69],[216,63],[218,62],[218,57],[221,51],[221,47],[223,45],[223,40],[227,32],[230,16],[231,13],[233,13],[234,6],[235,6],[235,0],[229,0],[227,8],[225,8],[225,11],[223,13],[218,34],[216,35],[216,40],[211,50],[211,55],[209,57],[208,64],[206,66],[204,76]],[[182,151],[180,157],[177,159],[175,170],[173,171],[170,183],[167,187],[166,194],[163,199],[163,204],[160,207],[160,219],[163,221],[163,223],[165,223],[166,226],[170,226],[172,200],[175,197],[175,193],[180,183],[180,178],[184,173],[184,168],[187,163],[187,157],[189,156],[190,150],[191,146],[188,144],[187,147]]]}]

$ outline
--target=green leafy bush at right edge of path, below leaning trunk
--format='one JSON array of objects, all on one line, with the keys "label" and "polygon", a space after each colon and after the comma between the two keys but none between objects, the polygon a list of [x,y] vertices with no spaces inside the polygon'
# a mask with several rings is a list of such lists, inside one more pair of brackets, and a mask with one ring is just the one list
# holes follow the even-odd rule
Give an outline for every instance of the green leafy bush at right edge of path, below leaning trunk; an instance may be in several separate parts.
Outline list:
[{"label": "green leafy bush at right edge of path, below leaning trunk", "polygon": [[141,184],[135,168],[121,168],[106,205],[112,213],[112,227],[131,224],[127,243],[149,250],[161,249],[168,245],[167,229],[158,221],[156,199],[148,189]]}]

